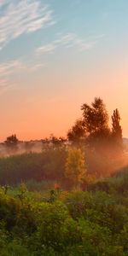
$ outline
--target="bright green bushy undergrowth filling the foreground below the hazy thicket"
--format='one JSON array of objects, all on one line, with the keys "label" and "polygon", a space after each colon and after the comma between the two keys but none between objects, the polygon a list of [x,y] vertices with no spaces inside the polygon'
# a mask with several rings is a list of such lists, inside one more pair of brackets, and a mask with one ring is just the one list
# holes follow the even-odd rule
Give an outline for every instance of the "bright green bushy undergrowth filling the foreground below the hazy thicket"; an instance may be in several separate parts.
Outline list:
[{"label": "bright green bushy undergrowth filling the foreground below the hazy thicket", "polygon": [[86,191],[0,189],[0,255],[128,255],[128,169]]}]

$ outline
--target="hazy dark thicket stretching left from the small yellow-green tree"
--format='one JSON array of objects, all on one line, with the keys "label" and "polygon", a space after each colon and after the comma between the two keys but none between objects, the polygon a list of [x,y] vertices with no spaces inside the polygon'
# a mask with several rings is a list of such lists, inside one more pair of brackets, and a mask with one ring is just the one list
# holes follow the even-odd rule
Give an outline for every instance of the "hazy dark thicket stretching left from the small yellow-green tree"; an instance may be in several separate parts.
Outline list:
[{"label": "hazy dark thicket stretching left from the small yellow-green tree", "polygon": [[32,179],[38,182],[63,180],[66,158],[65,148],[0,158],[0,184],[14,185]]}]

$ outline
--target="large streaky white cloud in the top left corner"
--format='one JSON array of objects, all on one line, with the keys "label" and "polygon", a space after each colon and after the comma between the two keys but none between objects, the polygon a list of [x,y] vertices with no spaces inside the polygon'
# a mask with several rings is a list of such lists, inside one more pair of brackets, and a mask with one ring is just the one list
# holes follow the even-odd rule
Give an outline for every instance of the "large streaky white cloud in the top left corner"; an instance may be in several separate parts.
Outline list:
[{"label": "large streaky white cloud in the top left corner", "polygon": [[[9,3],[8,3],[9,2]],[[8,3],[0,17],[0,48],[24,33],[32,33],[54,24],[53,10],[39,0],[1,0]]]}]

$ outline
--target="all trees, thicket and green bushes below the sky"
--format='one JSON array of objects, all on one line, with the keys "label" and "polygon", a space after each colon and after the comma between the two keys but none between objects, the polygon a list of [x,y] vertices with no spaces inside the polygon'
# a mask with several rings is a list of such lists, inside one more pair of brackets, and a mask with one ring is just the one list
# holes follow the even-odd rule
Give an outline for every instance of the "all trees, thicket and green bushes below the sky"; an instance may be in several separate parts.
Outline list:
[{"label": "all trees, thicket and green bushes below the sky", "polygon": [[128,255],[128,167],[120,170],[128,162],[119,111],[112,128],[102,99],[82,111],[67,140],[45,140],[39,153],[26,143],[20,154],[15,135],[3,143],[0,255]]}]

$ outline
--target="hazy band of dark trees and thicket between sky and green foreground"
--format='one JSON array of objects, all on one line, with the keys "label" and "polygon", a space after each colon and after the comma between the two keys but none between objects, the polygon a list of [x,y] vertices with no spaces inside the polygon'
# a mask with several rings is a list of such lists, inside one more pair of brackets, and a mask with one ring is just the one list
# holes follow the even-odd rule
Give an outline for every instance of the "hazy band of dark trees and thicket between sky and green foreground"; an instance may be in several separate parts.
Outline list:
[{"label": "hazy band of dark trees and thicket between sky and green foreground", "polygon": [[[86,188],[97,177],[107,177],[125,166],[125,154],[119,110],[113,110],[112,127],[101,98],[81,107],[82,118],[67,132],[67,139],[51,135],[42,140],[42,151],[0,159],[0,183],[21,180],[57,181],[64,188]],[[68,142],[68,143],[67,143]],[[16,154],[19,140],[7,137],[4,144]]]}]

